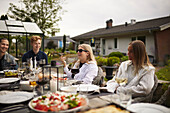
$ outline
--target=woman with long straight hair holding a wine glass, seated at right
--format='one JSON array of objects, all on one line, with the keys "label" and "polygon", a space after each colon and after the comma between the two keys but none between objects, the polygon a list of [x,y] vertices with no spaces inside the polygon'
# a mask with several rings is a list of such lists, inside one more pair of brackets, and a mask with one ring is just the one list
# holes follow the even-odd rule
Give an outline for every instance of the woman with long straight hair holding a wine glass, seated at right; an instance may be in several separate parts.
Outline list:
[{"label": "woman with long straight hair holding a wine glass, seated at right", "polygon": [[[128,46],[129,60],[122,62],[114,78],[107,82],[108,90],[116,93],[130,92],[132,97],[149,94],[154,86],[155,68],[149,62],[145,44],[136,40]],[[118,78],[127,78],[126,84],[120,86]]]}]

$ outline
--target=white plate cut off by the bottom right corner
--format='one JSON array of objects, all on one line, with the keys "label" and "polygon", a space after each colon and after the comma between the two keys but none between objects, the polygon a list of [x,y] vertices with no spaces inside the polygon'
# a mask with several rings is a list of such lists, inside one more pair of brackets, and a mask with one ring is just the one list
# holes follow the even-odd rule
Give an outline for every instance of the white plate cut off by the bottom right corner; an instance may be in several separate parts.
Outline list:
[{"label": "white plate cut off by the bottom right corner", "polygon": [[149,103],[131,104],[127,109],[136,113],[170,113],[170,109],[164,106]]}]

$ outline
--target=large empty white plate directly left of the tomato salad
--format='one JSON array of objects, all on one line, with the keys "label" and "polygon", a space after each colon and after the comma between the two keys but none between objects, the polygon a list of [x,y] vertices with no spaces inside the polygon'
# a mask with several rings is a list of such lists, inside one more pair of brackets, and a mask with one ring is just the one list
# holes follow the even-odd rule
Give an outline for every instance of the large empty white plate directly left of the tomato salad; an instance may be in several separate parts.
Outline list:
[{"label": "large empty white plate directly left of the tomato salad", "polygon": [[0,96],[1,104],[14,104],[30,100],[33,93],[29,92],[9,92]]}]

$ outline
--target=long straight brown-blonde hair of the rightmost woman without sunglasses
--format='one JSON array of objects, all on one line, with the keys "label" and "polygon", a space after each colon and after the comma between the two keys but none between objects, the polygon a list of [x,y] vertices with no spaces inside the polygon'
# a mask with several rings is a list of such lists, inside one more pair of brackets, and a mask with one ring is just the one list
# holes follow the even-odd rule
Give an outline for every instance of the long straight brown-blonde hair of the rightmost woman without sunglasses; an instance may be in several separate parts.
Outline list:
[{"label": "long straight brown-blonde hair of the rightmost woman without sunglasses", "polygon": [[134,55],[133,64],[135,67],[135,74],[138,73],[138,71],[146,66],[152,66],[152,64],[149,61],[149,57],[146,53],[145,44],[140,40],[135,40],[129,44],[129,46],[132,47],[132,52]]}]

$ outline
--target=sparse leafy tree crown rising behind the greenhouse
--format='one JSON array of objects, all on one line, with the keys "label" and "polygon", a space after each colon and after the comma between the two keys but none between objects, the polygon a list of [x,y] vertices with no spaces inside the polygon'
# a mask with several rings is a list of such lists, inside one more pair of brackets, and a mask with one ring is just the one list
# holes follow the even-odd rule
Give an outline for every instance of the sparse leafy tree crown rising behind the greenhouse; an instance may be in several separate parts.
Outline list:
[{"label": "sparse leafy tree crown rising behind the greenhouse", "polygon": [[64,0],[22,0],[24,8],[20,9],[10,3],[8,16],[15,20],[35,22],[44,33],[59,32],[57,22],[65,12],[62,8]]}]

